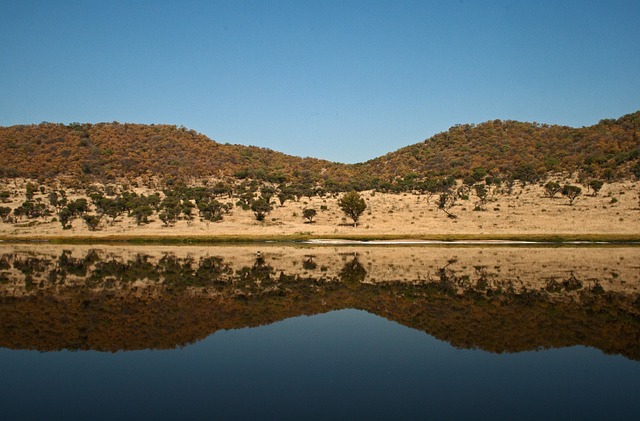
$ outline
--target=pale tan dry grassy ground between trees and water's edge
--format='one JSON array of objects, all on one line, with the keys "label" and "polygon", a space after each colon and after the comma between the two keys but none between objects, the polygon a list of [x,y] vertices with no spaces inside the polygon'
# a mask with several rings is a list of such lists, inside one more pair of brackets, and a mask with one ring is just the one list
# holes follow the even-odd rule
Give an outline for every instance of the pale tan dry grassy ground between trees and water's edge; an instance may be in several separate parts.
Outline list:
[{"label": "pale tan dry grassy ground between trees and water's edge", "polygon": [[[0,206],[16,207],[24,200],[23,183],[5,181],[0,190],[12,191],[14,196]],[[12,184],[11,184],[12,183]],[[126,216],[110,225],[103,221],[100,230],[89,231],[84,221],[76,219],[72,228],[63,230],[51,217],[38,220],[32,226],[0,223],[0,237],[74,237],[74,236],[248,236],[277,237],[303,234],[307,236],[349,237],[376,236],[423,237],[437,235],[562,235],[606,234],[640,235],[640,182],[605,184],[597,196],[583,188],[572,206],[559,194],[556,198],[544,195],[540,185],[516,186],[511,195],[494,192],[490,195],[485,211],[474,211],[477,197],[458,200],[450,212],[457,218],[448,218],[437,209],[437,196],[382,194],[363,192],[367,209],[358,226],[345,217],[335,197],[302,198],[287,201],[284,206],[274,204],[273,211],[263,222],[256,221],[251,211],[239,207],[219,222],[180,220],[175,226],[166,227],[154,215],[147,225],[136,225]],[[71,196],[73,198],[74,196]],[[77,197],[77,196],[76,196]],[[36,199],[46,203],[46,194]],[[276,199],[274,199],[274,202]],[[318,211],[314,223],[302,217],[305,208]]]}]

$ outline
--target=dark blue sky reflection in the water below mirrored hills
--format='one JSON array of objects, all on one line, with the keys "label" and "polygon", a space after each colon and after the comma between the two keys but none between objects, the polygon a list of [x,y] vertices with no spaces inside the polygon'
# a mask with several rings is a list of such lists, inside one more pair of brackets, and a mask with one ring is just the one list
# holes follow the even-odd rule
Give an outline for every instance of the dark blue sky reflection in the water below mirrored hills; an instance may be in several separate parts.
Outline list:
[{"label": "dark blue sky reflection in the water below mirrored hills", "polygon": [[359,310],[168,351],[0,349],[6,419],[636,419],[640,363],[456,349]]}]

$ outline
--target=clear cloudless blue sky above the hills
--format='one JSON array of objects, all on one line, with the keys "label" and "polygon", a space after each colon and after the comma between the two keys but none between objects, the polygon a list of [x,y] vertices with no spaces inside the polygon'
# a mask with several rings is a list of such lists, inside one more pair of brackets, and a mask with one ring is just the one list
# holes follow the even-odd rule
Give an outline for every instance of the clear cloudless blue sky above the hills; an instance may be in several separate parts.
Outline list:
[{"label": "clear cloudless blue sky above the hills", "polygon": [[0,0],[0,125],[167,123],[363,162],[640,109],[640,1]]}]

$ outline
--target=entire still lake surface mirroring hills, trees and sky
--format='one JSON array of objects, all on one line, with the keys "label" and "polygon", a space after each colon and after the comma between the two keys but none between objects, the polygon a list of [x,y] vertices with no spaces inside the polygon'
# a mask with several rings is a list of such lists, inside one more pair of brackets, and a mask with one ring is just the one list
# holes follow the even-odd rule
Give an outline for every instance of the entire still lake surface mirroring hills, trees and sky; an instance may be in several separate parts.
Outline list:
[{"label": "entire still lake surface mirroring hills, trees and sky", "polygon": [[2,247],[4,419],[640,416],[638,248]]}]

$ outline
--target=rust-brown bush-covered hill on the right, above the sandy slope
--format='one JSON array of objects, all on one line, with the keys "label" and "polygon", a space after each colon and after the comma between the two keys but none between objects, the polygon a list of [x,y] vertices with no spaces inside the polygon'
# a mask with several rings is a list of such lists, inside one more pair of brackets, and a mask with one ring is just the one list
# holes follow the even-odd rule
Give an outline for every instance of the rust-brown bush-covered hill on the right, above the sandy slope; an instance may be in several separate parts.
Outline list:
[{"label": "rust-brown bush-covered hill on the right, above the sandy slope", "polygon": [[534,181],[549,172],[608,180],[640,176],[640,111],[590,127],[517,121],[457,125],[422,143],[366,163],[371,173],[475,173]]}]

